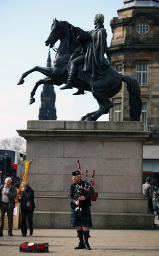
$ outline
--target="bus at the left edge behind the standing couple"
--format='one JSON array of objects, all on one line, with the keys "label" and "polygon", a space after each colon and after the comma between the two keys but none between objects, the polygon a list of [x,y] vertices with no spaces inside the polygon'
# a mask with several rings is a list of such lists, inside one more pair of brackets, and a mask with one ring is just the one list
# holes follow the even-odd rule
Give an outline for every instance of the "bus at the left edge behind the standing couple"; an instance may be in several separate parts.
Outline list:
[{"label": "bus at the left edge behind the standing couple", "polygon": [[0,183],[10,177],[12,184],[21,183],[25,174],[26,153],[0,148]]}]

